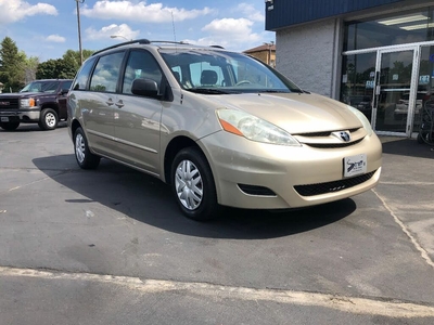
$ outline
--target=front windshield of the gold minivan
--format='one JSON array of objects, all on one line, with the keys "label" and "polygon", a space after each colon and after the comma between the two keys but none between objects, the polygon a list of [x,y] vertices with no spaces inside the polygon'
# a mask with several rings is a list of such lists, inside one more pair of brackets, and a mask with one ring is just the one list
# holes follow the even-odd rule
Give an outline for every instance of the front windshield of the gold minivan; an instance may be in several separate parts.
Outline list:
[{"label": "front windshield of the gold minivan", "polygon": [[303,92],[268,65],[245,54],[212,49],[164,49],[161,54],[179,84],[192,92]]}]

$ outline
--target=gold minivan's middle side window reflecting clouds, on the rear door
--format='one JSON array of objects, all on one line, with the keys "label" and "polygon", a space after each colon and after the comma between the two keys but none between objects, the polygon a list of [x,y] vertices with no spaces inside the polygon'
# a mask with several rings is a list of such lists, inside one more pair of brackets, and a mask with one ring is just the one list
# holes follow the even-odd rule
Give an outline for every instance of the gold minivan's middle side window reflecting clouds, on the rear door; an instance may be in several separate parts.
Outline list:
[{"label": "gold minivan's middle side window reflecting clouds, on the rear door", "polygon": [[123,58],[124,52],[101,56],[90,79],[90,90],[115,92]]}]

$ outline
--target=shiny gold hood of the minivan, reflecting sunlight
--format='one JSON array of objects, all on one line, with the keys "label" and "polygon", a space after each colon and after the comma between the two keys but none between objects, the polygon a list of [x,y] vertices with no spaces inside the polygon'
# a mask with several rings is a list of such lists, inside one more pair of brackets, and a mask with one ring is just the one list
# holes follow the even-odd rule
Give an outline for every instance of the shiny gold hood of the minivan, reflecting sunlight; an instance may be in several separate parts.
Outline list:
[{"label": "shiny gold hood of the minivan, reflecting sunlight", "polygon": [[246,93],[215,99],[227,108],[243,109],[293,134],[362,126],[346,104],[318,94]]}]

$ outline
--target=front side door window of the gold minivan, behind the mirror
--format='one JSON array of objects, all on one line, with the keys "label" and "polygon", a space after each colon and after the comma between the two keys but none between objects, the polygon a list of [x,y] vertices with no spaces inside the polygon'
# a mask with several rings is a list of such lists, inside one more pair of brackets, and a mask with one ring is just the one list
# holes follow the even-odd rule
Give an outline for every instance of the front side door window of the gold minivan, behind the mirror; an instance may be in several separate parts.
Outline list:
[{"label": "front side door window of the gold minivan, behind the mirror", "polygon": [[123,93],[131,93],[131,84],[136,78],[152,79],[159,86],[162,76],[158,64],[151,53],[131,51],[125,69]]}]

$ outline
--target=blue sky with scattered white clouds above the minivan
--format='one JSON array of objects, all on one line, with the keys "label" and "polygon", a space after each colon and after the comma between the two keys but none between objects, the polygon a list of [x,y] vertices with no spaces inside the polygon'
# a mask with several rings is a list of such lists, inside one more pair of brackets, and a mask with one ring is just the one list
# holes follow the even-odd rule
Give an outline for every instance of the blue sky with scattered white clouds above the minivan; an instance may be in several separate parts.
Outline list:
[{"label": "blue sky with scattered white clouds above the minivan", "polygon": [[[40,62],[59,58],[78,50],[76,5],[76,0],[0,0],[0,39],[9,36]],[[79,9],[86,50],[137,38],[234,51],[275,41],[275,32],[265,30],[264,0],[85,0]]]}]

